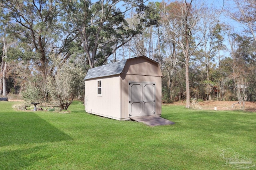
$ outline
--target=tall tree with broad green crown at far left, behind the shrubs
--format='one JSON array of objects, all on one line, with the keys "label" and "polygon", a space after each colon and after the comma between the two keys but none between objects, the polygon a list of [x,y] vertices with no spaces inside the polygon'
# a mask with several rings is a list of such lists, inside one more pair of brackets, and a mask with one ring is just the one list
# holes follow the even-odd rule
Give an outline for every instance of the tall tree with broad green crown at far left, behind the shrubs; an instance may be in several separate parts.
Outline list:
[{"label": "tall tree with broad green crown at far left, behind the shrubs", "polygon": [[[1,17],[6,30],[18,39],[16,48],[20,60],[29,62],[32,71],[40,72],[44,99],[47,100],[47,77],[50,75],[51,57],[70,57],[69,48],[75,34],[62,22],[64,11],[58,0],[0,0]],[[18,52],[19,51],[19,52]],[[12,55],[14,58],[16,54]]]}]

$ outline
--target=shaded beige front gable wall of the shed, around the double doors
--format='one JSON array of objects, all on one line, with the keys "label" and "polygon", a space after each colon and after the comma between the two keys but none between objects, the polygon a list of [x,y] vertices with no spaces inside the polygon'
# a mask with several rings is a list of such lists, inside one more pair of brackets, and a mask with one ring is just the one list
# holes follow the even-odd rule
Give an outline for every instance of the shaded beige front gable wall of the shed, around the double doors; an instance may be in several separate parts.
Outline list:
[{"label": "shaded beige front gable wall of the shed, around the double doors", "polygon": [[162,113],[162,71],[158,63],[146,58],[128,59],[122,71],[122,119],[129,117],[129,82],[156,83],[156,115]]}]

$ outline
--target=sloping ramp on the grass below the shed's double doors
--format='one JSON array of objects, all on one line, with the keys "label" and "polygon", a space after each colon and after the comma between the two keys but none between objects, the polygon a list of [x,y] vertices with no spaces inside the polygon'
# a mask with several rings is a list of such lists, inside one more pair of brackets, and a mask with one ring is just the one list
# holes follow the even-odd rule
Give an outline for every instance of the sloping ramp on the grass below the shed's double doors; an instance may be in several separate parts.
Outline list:
[{"label": "sloping ramp on the grass below the shed's double doors", "polygon": [[150,126],[175,124],[174,122],[164,119],[158,115],[137,116],[137,117],[130,117],[130,119],[132,119],[134,121],[145,123]]}]

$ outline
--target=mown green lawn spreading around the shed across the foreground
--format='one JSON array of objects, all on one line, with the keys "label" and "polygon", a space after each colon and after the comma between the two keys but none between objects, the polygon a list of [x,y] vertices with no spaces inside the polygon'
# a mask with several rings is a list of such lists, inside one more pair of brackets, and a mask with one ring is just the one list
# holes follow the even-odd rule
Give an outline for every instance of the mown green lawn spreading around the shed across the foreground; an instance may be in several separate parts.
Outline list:
[{"label": "mown green lawn spreading around the shed across the foreground", "polygon": [[0,170],[229,170],[220,156],[228,148],[256,165],[256,113],[163,106],[176,124],[149,127],[90,115],[80,102],[68,113],[14,104],[0,102]]}]

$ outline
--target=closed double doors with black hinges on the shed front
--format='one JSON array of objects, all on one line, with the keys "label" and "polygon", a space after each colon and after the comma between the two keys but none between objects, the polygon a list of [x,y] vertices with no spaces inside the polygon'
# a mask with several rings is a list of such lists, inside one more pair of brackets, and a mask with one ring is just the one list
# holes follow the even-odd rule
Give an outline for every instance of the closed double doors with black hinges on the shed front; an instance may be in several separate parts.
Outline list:
[{"label": "closed double doors with black hinges on the shed front", "polygon": [[156,113],[156,84],[129,83],[129,115],[131,117]]}]

